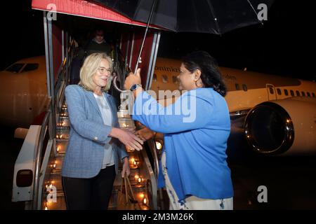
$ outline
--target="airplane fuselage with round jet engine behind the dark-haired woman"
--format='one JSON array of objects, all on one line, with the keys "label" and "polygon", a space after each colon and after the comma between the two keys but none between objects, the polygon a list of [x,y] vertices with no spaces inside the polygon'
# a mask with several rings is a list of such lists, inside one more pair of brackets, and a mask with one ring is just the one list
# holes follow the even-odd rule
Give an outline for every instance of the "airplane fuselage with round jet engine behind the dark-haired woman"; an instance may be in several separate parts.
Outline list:
[{"label": "airplane fuselage with round jet engine behind the dark-haired woman", "polygon": [[[157,58],[151,89],[177,90],[181,62]],[[316,153],[316,83],[297,78],[230,69],[220,66],[228,93],[231,120],[229,146],[244,137],[249,148],[263,155]],[[234,141],[234,142],[232,142]]]}]

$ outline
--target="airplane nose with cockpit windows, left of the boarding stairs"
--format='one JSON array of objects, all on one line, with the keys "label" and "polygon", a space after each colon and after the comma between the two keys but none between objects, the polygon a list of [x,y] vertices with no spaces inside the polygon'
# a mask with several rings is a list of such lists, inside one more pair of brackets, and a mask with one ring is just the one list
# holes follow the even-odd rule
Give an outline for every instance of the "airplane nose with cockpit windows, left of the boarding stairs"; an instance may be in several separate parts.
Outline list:
[{"label": "airplane nose with cockpit windows, left of the boarding stairs", "polygon": [[45,56],[21,59],[0,71],[0,124],[29,127],[49,104]]}]

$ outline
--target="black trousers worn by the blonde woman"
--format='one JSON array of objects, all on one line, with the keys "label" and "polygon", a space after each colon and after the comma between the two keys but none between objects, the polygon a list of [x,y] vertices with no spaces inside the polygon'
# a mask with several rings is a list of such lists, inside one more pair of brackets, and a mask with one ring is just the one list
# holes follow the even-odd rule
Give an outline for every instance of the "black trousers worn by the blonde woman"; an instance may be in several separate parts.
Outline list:
[{"label": "black trousers worn by the blonde woman", "polygon": [[101,169],[91,179],[62,176],[67,210],[107,210],[115,179],[115,165]]}]

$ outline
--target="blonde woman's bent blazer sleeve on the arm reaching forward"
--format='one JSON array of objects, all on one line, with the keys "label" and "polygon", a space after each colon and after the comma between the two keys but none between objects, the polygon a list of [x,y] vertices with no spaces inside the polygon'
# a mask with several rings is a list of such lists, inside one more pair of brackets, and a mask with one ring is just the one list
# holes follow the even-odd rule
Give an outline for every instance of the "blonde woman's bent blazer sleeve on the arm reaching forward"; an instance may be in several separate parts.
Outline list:
[{"label": "blonde woman's bent blazer sleeve on the arm reaching forward", "polygon": [[111,140],[111,137],[108,137],[108,135],[112,130],[112,126],[96,123],[86,118],[83,99],[84,94],[81,94],[80,91],[81,90],[74,85],[68,85],[65,88],[70,124],[74,131],[81,135],[81,137],[96,141],[100,144],[106,144]]}]

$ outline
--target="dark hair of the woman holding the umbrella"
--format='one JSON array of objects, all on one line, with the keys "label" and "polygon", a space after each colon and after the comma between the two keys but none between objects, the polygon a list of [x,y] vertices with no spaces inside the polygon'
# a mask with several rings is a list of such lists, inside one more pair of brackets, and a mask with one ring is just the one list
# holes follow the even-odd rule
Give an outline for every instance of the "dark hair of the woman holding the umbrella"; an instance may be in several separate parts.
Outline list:
[{"label": "dark hair of the woman holding the umbrella", "polygon": [[191,73],[197,69],[201,71],[204,87],[213,87],[213,90],[225,97],[227,88],[218,70],[218,64],[208,52],[202,50],[191,52],[183,57],[182,62],[185,69]]}]

